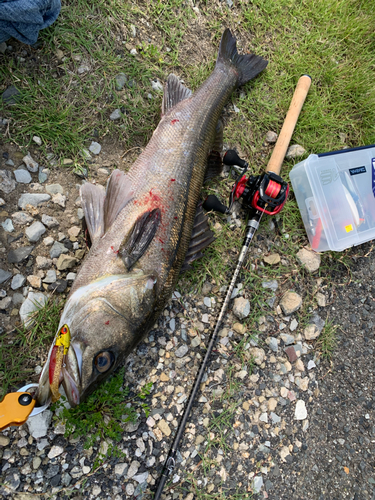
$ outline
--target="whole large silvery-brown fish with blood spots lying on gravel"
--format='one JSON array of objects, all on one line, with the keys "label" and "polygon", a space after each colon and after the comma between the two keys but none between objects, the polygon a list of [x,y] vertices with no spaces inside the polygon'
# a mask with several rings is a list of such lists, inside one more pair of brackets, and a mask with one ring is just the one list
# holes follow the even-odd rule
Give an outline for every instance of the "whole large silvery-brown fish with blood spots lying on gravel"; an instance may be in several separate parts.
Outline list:
[{"label": "whole large silvery-brown fish with blood spots lying on gravel", "polygon": [[71,406],[84,401],[152,329],[181,269],[213,241],[199,200],[205,179],[222,169],[220,116],[232,92],[267,63],[240,55],[226,29],[215,68],[194,94],[169,75],[161,120],[129,171],[114,170],[106,189],[83,184],[92,246],[56,334],[69,329],[69,347],[63,362],[50,367],[55,338],[40,376],[38,404],[49,399],[51,385],[56,399],[61,383]]}]

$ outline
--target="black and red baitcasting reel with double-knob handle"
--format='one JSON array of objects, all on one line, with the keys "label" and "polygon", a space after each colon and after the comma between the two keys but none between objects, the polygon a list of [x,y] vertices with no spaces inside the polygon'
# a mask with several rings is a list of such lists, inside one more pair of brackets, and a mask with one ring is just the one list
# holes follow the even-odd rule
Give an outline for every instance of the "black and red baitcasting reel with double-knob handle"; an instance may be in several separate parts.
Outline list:
[{"label": "black and red baitcasting reel with double-knob handle", "polygon": [[288,183],[274,172],[264,172],[261,175],[244,175],[249,167],[245,160],[230,149],[225,155],[223,162],[228,166],[239,166],[243,169],[233,185],[229,197],[229,207],[223,205],[215,195],[207,197],[203,203],[205,210],[214,210],[223,214],[228,214],[233,202],[242,198],[246,209],[254,209],[268,215],[275,215],[283,208],[289,193]]}]

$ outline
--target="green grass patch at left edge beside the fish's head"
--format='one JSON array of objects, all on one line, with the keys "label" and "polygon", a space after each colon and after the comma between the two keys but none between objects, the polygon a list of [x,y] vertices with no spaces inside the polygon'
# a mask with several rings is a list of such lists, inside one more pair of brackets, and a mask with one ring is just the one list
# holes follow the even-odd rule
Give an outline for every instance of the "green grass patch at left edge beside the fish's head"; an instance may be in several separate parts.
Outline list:
[{"label": "green grass patch at left edge beside the fish's head", "polygon": [[0,397],[9,390],[19,388],[35,376],[35,366],[44,363],[46,346],[56,334],[62,301],[49,299],[33,316],[31,329],[20,328],[0,339]]}]

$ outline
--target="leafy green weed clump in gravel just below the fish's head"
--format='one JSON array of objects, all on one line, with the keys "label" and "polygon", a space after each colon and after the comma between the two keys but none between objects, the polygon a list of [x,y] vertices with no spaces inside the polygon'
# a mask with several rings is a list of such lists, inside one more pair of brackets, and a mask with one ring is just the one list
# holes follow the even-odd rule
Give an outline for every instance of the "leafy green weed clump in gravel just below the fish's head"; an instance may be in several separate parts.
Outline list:
[{"label": "leafy green weed clump in gravel just below the fish's head", "polygon": [[[65,422],[65,436],[73,435],[74,438],[84,436],[85,448],[94,446],[98,441],[106,441],[108,446],[107,455],[120,457],[122,451],[116,447],[124,433],[123,424],[135,422],[137,419],[137,408],[144,410],[149,415],[149,407],[146,403],[132,406],[137,398],[145,399],[151,392],[152,383],[142,387],[140,393],[135,397],[129,397],[129,388],[123,387],[125,368],[118,370],[104,384],[91,394],[85,401],[75,408],[67,409],[64,401],[58,401],[52,407],[59,410],[55,419]],[[107,456],[100,450],[96,456],[94,468],[96,468]]]}]

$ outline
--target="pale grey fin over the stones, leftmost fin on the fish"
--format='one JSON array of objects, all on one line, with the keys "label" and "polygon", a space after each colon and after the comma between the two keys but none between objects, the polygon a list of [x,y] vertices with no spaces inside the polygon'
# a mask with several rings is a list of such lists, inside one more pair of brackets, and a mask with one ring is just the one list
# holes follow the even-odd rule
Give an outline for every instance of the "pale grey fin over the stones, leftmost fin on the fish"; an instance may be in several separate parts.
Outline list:
[{"label": "pale grey fin over the stones, leftmost fin on the fish", "polygon": [[81,186],[82,209],[92,244],[104,234],[105,189],[99,184],[86,182]]}]

